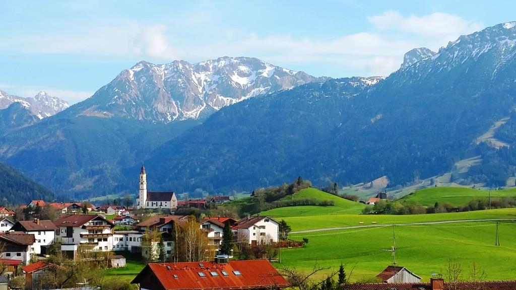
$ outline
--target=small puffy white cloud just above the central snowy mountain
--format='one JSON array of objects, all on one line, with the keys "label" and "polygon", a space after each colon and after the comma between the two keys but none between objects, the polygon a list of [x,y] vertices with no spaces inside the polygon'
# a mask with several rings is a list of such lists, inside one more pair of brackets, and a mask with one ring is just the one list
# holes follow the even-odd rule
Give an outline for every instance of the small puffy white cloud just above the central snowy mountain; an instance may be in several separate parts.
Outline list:
[{"label": "small puffy white cloud just above the central snowy mountain", "polygon": [[176,59],[183,53],[174,49],[165,35],[167,26],[151,25],[145,27],[135,39],[134,52],[154,58]]}]

